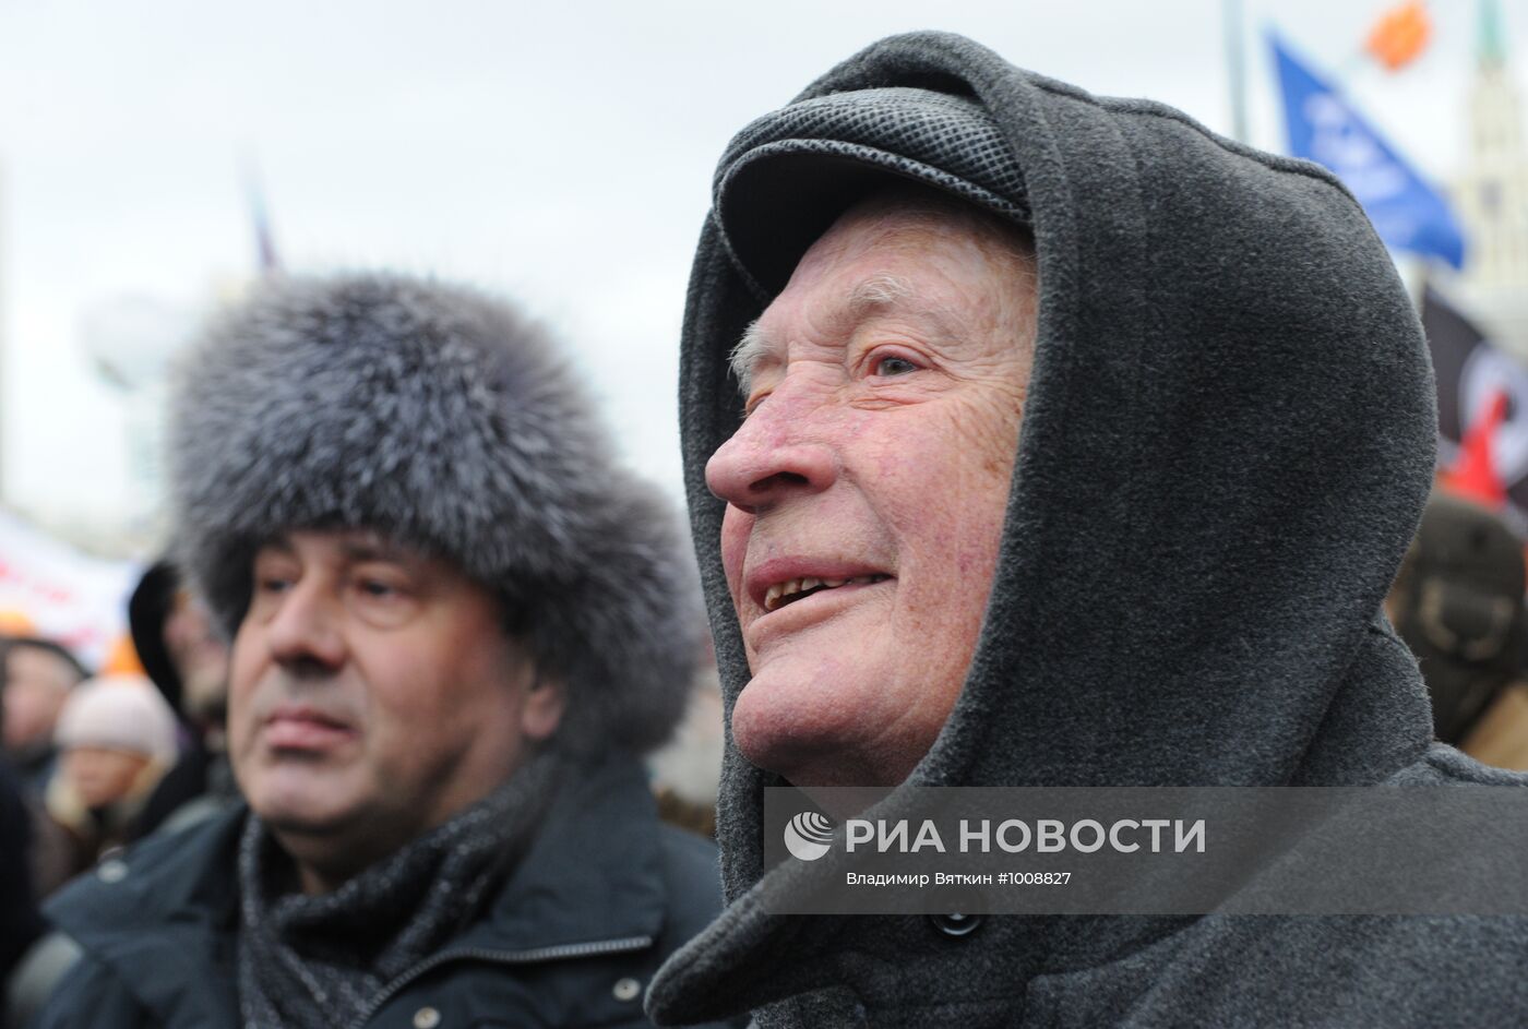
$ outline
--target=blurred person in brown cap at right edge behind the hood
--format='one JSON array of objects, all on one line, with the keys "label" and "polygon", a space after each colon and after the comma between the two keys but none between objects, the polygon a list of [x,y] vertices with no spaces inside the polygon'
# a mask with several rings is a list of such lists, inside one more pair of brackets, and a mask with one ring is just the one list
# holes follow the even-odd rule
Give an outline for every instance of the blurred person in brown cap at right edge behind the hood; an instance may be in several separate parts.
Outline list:
[{"label": "blurred person in brown cap at right edge behind the hood", "polygon": [[1438,739],[1487,765],[1528,771],[1517,534],[1479,504],[1433,492],[1384,609],[1416,655]]}]

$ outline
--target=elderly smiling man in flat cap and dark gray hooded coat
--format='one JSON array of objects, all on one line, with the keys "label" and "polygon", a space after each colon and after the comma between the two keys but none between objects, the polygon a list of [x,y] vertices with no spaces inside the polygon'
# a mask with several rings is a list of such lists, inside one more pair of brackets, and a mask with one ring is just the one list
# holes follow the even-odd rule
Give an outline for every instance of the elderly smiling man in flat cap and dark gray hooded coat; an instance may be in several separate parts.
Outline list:
[{"label": "elderly smiling man in flat cap and dark gray hooded coat", "polygon": [[1343,186],[1172,108],[917,34],[744,128],[681,357],[730,905],[654,1017],[1522,1021],[1522,919],[785,916],[847,858],[761,840],[784,783],[1522,785],[1380,609],[1432,389]]}]

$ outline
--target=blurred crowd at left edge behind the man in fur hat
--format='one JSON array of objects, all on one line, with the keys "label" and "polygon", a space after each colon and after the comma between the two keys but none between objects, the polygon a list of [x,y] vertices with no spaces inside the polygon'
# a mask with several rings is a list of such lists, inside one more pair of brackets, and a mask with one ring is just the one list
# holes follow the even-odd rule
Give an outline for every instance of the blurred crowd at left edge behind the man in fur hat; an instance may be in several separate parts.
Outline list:
[{"label": "blurred crowd at left edge behind the man in fur hat", "polygon": [[[35,904],[113,850],[231,803],[223,753],[228,647],[168,562],[128,603],[128,669],[92,675],[61,643],[0,637],[8,826],[23,846],[6,971],[40,934]],[[121,655],[116,658],[121,663]]]}]

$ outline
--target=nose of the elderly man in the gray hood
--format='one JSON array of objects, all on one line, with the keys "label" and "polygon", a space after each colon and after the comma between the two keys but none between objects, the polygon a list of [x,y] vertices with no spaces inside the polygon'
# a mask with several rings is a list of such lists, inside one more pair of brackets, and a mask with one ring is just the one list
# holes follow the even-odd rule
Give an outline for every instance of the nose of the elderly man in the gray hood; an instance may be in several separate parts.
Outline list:
[{"label": "nose of the elderly man in the gray hood", "polygon": [[839,475],[830,418],[782,386],[738,426],[706,463],[706,485],[749,514],[796,495],[821,493]]}]

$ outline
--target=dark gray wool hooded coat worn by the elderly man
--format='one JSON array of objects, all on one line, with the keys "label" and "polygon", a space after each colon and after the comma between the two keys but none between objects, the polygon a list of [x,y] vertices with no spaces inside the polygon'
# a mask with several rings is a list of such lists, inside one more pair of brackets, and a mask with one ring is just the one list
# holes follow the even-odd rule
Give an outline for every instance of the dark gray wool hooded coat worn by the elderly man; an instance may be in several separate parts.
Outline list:
[{"label": "dark gray wool hooded coat worn by the elderly man", "polygon": [[[1039,263],[986,624],[911,783],[1523,785],[1432,742],[1416,664],[1380,612],[1427,498],[1435,411],[1416,316],[1358,205],[1316,165],[946,34],[868,47],[744,130],[717,173],[680,415],[729,716],[749,670],[704,466],[740,423],[730,348],[853,195],[816,188],[804,154],[847,130],[814,107],[859,110],[839,142],[903,159],[862,165],[952,188],[915,168],[934,165],[999,212],[972,188],[1008,189]],[[909,144],[926,134],[898,125],[938,110],[972,131]],[[986,125],[1007,160],[955,168]],[[839,189],[834,162],[814,168]],[[792,191],[814,229],[779,211],[776,235],[770,205]],[[764,867],[770,785],[729,748],[729,908],[654,982],[660,1024],[741,1009],[766,1027],[1528,1020],[1520,919],[1007,916],[952,939],[923,918],[769,916],[776,890],[842,881],[836,850]],[[879,808],[895,812],[895,795]]]}]

